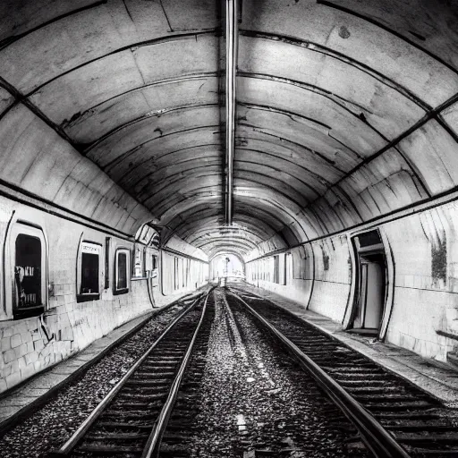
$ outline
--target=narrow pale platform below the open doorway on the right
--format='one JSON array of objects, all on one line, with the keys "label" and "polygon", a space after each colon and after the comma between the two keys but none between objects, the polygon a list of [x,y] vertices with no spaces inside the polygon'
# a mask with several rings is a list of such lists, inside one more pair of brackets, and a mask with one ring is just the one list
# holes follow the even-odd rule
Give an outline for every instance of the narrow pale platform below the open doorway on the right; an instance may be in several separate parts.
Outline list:
[{"label": "narrow pale platform below the open doorway on the right", "polygon": [[446,363],[422,358],[417,353],[385,344],[372,337],[345,332],[339,322],[319,315],[304,306],[280,294],[273,293],[250,284],[229,283],[227,286],[257,294],[293,312],[307,323],[318,327],[328,335],[346,344],[380,366],[410,381],[420,389],[436,397],[446,407],[458,410],[458,371]]}]

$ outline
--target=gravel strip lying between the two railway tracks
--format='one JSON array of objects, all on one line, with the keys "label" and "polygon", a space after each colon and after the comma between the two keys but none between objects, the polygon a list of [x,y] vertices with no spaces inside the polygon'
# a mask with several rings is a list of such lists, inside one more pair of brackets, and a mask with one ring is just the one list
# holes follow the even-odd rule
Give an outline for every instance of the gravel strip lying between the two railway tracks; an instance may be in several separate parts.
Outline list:
[{"label": "gravel strip lying between the two railway tracks", "polygon": [[367,456],[356,430],[276,341],[216,290],[191,457]]}]

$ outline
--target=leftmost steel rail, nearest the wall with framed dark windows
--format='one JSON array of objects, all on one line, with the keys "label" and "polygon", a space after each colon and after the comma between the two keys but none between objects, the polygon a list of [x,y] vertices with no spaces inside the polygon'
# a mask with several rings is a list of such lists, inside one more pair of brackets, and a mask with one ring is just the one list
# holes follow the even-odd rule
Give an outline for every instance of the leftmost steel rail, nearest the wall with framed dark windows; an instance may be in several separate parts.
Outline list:
[{"label": "leftmost steel rail, nearest the wall with framed dark windows", "polygon": [[125,383],[129,380],[131,375],[139,369],[140,365],[148,358],[149,354],[157,347],[157,345],[164,340],[165,336],[168,335],[168,333],[172,330],[172,328],[184,317],[186,316],[191,310],[193,310],[196,306],[196,304],[200,301],[201,296],[203,295],[200,294],[199,297],[194,301],[186,310],[183,310],[182,313],[178,317],[170,323],[168,327],[165,328],[163,333],[157,337],[157,340],[155,341],[154,344],[152,344],[148,350],[140,357],[139,360],[137,360],[131,368],[123,375],[123,377],[119,380],[119,382],[110,390],[108,394],[104,397],[104,399],[98,404],[98,406],[90,412],[89,416],[84,420],[80,427],[72,434],[72,437],[70,437],[64,445],[61,446],[58,450],[52,451],[48,454],[49,458],[57,458],[60,456],[68,456],[69,454],[72,453],[72,450],[74,447],[80,442],[82,437],[86,434],[88,429],[94,424],[94,422],[98,419],[98,417],[105,411],[106,407],[113,401],[114,396],[118,394]]}]

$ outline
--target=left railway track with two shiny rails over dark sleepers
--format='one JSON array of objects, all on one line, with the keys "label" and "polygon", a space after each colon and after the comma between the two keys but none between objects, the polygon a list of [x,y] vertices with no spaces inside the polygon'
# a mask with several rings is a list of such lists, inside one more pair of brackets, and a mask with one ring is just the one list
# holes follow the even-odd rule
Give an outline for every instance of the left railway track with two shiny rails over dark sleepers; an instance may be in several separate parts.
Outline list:
[{"label": "left railway track with two shiny rails over dark sleepers", "polygon": [[175,318],[72,437],[48,456],[159,456],[194,346],[202,344],[202,330],[208,334],[212,297],[211,292],[200,297]]}]

